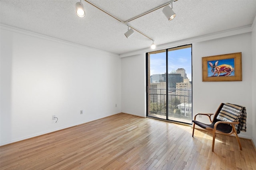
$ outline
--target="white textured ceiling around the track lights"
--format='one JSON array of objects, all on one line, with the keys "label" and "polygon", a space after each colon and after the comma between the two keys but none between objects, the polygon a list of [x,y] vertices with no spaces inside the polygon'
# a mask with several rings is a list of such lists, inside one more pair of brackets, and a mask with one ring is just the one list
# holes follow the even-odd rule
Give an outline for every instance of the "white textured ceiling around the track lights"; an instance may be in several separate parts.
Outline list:
[{"label": "white textured ceiling around the track lights", "polygon": [[[0,0],[0,22],[72,43],[116,54],[149,48],[152,40],[82,0],[86,16],[76,16],[79,0]],[[126,21],[170,0],[89,0]],[[162,8],[129,24],[155,40],[156,45],[251,25],[256,0],[178,0],[176,17],[168,21]]]}]

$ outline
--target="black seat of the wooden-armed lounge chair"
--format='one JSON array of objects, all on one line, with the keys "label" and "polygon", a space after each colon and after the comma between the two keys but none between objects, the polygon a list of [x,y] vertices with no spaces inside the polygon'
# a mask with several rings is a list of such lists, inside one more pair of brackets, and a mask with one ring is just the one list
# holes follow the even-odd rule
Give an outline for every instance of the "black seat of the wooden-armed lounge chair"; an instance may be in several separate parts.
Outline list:
[{"label": "black seat of the wooden-armed lounge chair", "polygon": [[[214,128],[214,124],[216,122],[212,122],[211,124],[205,124],[196,120],[192,120],[192,122],[194,122],[196,125],[206,129],[206,127],[210,127],[210,128]],[[217,131],[223,132],[223,133],[230,133],[232,131],[232,126],[226,123],[220,123],[217,125],[216,127]]]}]

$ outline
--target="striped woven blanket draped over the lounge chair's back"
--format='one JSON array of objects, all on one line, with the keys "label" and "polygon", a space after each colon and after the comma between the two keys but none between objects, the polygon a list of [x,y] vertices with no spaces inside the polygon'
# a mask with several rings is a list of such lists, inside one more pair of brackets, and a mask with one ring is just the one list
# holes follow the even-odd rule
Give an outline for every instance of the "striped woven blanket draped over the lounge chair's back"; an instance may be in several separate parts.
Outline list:
[{"label": "striped woven blanket draped over the lounge chair's back", "polygon": [[244,106],[226,103],[223,105],[217,119],[227,122],[239,121],[239,124],[235,125],[236,133],[246,132],[246,108]]}]

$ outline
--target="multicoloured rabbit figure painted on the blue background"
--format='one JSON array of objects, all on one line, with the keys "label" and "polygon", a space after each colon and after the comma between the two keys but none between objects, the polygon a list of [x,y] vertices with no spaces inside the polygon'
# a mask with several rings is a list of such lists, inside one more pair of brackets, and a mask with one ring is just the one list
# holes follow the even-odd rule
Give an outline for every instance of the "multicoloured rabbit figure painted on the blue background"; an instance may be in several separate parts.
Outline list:
[{"label": "multicoloured rabbit figure painted on the blue background", "polygon": [[[229,76],[234,71],[234,68],[231,65],[221,64],[217,66],[218,63],[219,61],[216,61],[213,65],[211,62],[209,62],[209,65],[212,68],[212,73],[213,73],[212,76],[215,76],[215,74],[218,74],[218,76]],[[220,73],[225,73],[225,74],[220,75]]]}]

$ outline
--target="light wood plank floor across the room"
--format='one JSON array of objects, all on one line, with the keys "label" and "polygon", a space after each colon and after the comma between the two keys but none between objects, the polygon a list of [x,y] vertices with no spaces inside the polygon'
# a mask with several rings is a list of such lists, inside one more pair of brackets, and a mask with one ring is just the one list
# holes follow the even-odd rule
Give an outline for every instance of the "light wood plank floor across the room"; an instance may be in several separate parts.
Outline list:
[{"label": "light wood plank floor across the room", "polygon": [[120,113],[0,148],[0,169],[256,169],[250,140]]}]

